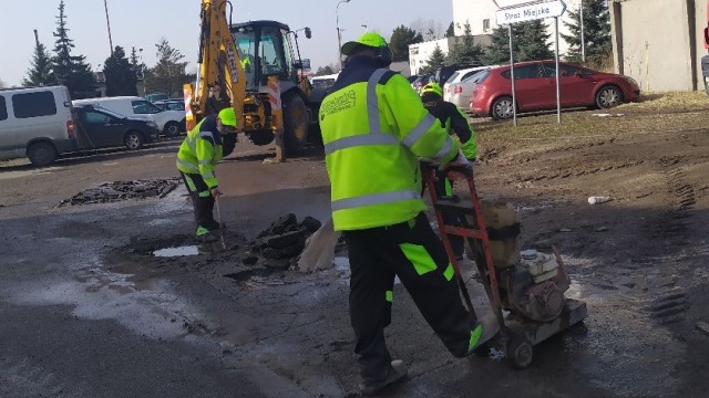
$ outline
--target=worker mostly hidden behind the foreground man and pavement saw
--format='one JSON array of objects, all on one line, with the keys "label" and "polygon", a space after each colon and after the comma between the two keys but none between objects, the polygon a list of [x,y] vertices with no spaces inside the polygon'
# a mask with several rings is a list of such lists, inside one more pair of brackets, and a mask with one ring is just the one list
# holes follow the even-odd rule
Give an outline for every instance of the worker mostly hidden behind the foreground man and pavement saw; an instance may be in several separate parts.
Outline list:
[{"label": "worker mostly hidden behind the foreground man and pavement saw", "polygon": [[[443,101],[443,88],[438,83],[428,83],[421,88],[421,102],[423,106],[439,121],[449,134],[454,135],[462,146],[463,155],[471,165],[475,163],[477,156],[477,145],[475,143],[475,132],[470,126],[467,117],[455,106],[455,104]],[[438,197],[453,196],[453,181],[445,176],[444,170],[436,169],[435,195]],[[446,226],[461,226],[461,220],[455,213],[443,212],[443,222]],[[464,243],[463,237],[449,234],[449,241],[453,248],[453,254],[458,260],[463,259]]]}]

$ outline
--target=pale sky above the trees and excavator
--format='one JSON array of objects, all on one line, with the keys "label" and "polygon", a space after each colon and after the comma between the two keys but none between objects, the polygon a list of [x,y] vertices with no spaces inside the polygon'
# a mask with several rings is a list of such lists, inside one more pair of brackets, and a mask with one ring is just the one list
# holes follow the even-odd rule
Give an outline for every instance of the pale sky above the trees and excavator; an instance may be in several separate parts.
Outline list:
[{"label": "pale sky above the trees and excavator", "polygon": [[[199,0],[105,0],[109,8],[113,45],[130,54],[131,48],[143,49],[143,62],[155,63],[155,43],[165,36],[185,55],[188,72],[196,71],[199,38]],[[27,75],[34,50],[34,33],[51,52],[52,33],[56,29],[59,0],[0,0],[0,81],[7,86],[20,85]],[[73,55],[85,55],[94,71],[110,55],[104,0],[64,0],[69,38],[74,41]],[[337,60],[337,24],[342,42],[366,32],[377,31],[389,39],[391,31],[417,20],[440,22],[445,30],[451,23],[450,0],[232,0],[233,22],[276,20],[291,30],[309,27],[312,39],[298,35],[300,54],[310,59],[314,70]],[[336,14],[336,10],[339,12]],[[366,27],[362,27],[366,25]]]}]

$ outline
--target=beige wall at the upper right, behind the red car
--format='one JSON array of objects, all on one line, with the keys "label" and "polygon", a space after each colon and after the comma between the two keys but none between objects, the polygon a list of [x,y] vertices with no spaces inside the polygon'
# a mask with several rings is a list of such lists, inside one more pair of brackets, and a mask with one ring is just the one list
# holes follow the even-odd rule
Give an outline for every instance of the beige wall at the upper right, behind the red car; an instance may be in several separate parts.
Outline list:
[{"label": "beige wall at the upper right, behind the red car", "polygon": [[644,92],[703,90],[706,0],[613,0],[615,72]]}]

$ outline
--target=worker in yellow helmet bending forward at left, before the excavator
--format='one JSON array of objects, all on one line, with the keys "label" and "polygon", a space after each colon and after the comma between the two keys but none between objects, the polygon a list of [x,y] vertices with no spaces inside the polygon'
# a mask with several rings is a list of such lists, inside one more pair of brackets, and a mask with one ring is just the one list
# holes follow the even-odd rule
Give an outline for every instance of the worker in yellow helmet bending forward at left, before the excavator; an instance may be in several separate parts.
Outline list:
[{"label": "worker in yellow helmet bending forward at left, before the excavator", "polygon": [[177,169],[189,191],[197,224],[197,240],[214,242],[222,226],[214,219],[214,201],[222,195],[214,169],[229,155],[237,140],[236,113],[224,108],[217,116],[207,116],[197,124],[179,146]]}]

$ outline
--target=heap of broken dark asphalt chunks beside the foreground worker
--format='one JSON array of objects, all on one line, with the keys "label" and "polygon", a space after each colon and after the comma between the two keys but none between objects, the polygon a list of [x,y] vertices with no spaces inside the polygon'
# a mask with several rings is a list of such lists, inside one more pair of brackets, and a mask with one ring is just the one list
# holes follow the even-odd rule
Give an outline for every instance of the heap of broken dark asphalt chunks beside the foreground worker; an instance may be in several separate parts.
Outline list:
[{"label": "heap of broken dark asphalt chunks beside the foreground worker", "polygon": [[306,217],[298,222],[296,214],[288,213],[261,231],[255,240],[249,242],[253,254],[268,260],[281,260],[284,268],[291,265],[306,245],[306,240],[320,228],[322,223]]}]

